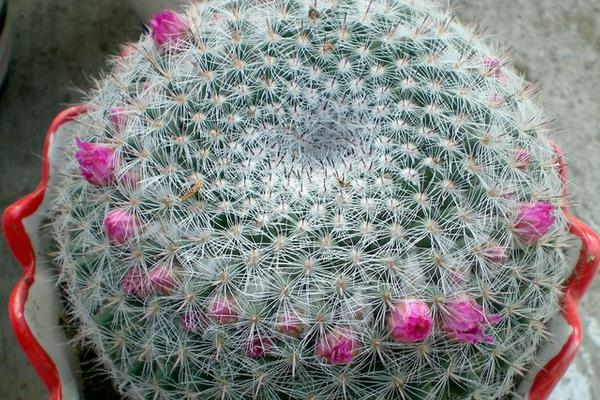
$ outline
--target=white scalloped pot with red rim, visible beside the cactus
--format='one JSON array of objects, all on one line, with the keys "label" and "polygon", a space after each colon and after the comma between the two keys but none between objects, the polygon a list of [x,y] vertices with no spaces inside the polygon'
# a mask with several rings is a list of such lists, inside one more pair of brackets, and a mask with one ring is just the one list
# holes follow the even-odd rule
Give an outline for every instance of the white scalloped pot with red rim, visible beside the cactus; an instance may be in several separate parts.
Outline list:
[{"label": "white scalloped pot with red rim, visible beside the cactus", "polygon": [[[85,107],[80,105],[56,116],[46,136],[40,183],[32,193],[9,206],[4,211],[2,221],[6,240],[23,268],[21,278],[10,296],[10,320],[27,359],[45,384],[50,400],[82,398],[75,353],[57,324],[62,309],[61,300],[53,282],[49,260],[42,251],[44,243],[39,228],[50,202],[45,194],[52,178],[51,164],[65,157],[58,151],[62,147],[59,145],[61,137],[68,136],[62,135],[62,132],[67,130],[68,122],[84,112]],[[558,147],[556,151],[566,185],[567,167]],[[564,211],[571,223],[570,232],[580,240],[579,256],[564,291],[563,312],[550,322],[553,340],[539,352],[540,365],[544,367],[529,374],[519,387],[520,393],[529,400],[548,398],[573,361],[582,339],[579,300],[600,264],[598,235],[567,209]]]}]

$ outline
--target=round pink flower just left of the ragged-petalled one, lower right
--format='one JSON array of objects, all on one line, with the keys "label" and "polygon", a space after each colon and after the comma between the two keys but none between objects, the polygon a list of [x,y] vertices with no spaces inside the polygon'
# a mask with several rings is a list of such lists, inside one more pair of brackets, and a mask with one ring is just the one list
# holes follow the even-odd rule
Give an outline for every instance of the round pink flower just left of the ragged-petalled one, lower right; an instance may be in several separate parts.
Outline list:
[{"label": "round pink flower just left of the ragged-petalled one, lower right", "polygon": [[433,320],[427,303],[410,299],[394,304],[388,314],[387,324],[394,340],[414,343],[429,336]]}]

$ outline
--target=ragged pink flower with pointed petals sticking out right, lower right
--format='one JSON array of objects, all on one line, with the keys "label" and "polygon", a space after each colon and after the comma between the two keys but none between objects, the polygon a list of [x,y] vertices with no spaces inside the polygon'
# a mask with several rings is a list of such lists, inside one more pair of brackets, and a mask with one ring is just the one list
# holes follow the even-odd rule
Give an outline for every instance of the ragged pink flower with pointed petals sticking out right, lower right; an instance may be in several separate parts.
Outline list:
[{"label": "ragged pink flower with pointed petals sticking out right, lower right", "polygon": [[500,322],[500,315],[486,315],[475,300],[466,298],[446,303],[444,312],[445,329],[453,339],[461,343],[494,342],[484,329]]}]

